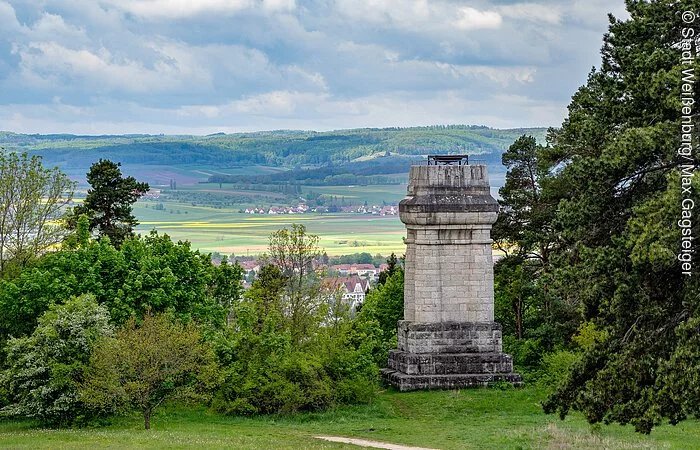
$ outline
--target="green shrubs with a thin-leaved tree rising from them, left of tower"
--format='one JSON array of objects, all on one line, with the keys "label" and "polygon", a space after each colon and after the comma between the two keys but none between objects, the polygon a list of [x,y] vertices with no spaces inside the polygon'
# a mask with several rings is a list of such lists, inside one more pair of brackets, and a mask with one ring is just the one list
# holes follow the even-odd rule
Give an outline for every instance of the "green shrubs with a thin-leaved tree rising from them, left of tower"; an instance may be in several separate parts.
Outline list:
[{"label": "green shrubs with a thin-leaved tree rising from them, left of tower", "polygon": [[372,336],[358,335],[347,305],[321,289],[317,237],[303,226],[274,233],[270,262],[216,339],[226,414],[319,411],[366,402],[378,386]]}]

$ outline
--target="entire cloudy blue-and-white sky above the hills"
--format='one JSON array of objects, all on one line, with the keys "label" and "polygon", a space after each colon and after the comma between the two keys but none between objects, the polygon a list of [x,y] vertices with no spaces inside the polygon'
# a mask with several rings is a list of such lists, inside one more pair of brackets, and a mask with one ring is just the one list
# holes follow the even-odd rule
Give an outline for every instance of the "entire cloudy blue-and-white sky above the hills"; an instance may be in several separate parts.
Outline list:
[{"label": "entire cloudy blue-and-white sky above the hills", "polygon": [[0,130],[557,126],[622,0],[0,0]]}]

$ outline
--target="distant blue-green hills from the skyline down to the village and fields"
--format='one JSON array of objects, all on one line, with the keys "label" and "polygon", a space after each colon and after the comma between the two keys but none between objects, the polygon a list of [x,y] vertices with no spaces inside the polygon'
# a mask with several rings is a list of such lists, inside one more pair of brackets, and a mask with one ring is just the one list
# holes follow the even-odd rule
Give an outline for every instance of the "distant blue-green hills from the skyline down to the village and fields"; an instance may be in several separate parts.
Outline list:
[{"label": "distant blue-green hills from the skyline down to the village and fields", "polygon": [[[409,158],[430,153],[468,153],[498,171],[501,154],[522,134],[543,141],[545,128],[499,130],[483,126],[435,125],[413,128],[361,128],[328,132],[261,131],[208,136],[17,134],[0,132],[0,146],[41,155],[74,179],[84,180],[87,168],[100,158],[120,161],[125,172],[151,184],[169,179],[257,182],[345,180],[343,174],[387,175],[405,170]],[[403,162],[402,162],[403,161]],[[275,178],[272,171],[296,175]],[[299,175],[302,174],[302,175]],[[219,178],[217,178],[217,176]],[[326,177],[335,178],[326,178]],[[222,177],[224,179],[222,180]],[[270,178],[272,177],[272,178]],[[309,178],[310,177],[310,178]],[[390,178],[373,178],[390,182]],[[230,180],[229,180],[230,181]]]}]

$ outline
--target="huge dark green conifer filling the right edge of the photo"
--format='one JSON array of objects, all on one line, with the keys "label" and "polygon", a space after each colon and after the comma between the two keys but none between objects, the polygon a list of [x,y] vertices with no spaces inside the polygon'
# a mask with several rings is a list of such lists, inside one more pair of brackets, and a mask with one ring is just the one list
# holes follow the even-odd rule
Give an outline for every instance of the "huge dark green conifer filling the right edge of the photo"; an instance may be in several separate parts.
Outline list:
[{"label": "huge dark green conifer filling the right edge of the photo", "polygon": [[[578,410],[591,423],[631,423],[649,433],[665,418],[699,412],[700,283],[682,274],[676,257],[679,82],[682,69],[700,71],[698,61],[680,62],[687,25],[679,11],[697,2],[626,4],[630,18],[611,17],[602,66],[573,96],[543,156],[556,175],[546,190],[558,199],[552,224],[561,239],[549,286],[602,333],[582,341],[581,360],[545,410],[561,417]],[[693,102],[700,102],[697,91]],[[690,187],[700,204],[697,181]],[[697,221],[691,231],[700,233]]]}]

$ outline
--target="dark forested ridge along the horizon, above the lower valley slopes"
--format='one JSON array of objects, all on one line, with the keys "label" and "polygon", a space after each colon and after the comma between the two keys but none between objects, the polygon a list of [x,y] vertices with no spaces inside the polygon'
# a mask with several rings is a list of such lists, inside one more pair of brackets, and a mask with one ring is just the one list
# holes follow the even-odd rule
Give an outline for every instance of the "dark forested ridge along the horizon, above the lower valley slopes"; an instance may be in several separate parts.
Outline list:
[{"label": "dark forested ridge along the horizon, above the lower valley slopes", "polygon": [[435,125],[328,132],[261,131],[208,136],[16,134],[0,132],[0,146],[44,157],[59,167],[89,166],[96,155],[123,164],[257,164],[285,167],[342,164],[377,154],[470,153],[494,161],[523,133],[544,138],[544,128],[498,130]]}]

